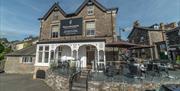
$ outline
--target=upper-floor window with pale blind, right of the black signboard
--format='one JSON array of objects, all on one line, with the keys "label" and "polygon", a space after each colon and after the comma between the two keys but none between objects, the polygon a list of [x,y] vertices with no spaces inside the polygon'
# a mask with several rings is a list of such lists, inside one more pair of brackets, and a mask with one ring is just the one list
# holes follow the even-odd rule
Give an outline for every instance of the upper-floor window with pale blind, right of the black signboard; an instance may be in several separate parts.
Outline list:
[{"label": "upper-floor window with pale blind, right of the black signboard", "polygon": [[86,35],[95,36],[95,22],[86,22]]}]

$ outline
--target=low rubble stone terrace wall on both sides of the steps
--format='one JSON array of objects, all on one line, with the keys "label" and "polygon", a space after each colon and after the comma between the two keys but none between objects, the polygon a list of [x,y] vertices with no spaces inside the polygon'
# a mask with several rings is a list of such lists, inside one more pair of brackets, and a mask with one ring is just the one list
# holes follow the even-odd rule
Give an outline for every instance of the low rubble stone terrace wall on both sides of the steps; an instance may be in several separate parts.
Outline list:
[{"label": "low rubble stone terrace wall on both sides of the steps", "polygon": [[[69,91],[69,77],[47,71],[45,82],[55,91]],[[179,84],[179,80],[169,80],[162,83]],[[158,89],[162,83],[142,81],[140,84],[133,84],[122,82],[89,81],[88,91],[145,91]]]}]

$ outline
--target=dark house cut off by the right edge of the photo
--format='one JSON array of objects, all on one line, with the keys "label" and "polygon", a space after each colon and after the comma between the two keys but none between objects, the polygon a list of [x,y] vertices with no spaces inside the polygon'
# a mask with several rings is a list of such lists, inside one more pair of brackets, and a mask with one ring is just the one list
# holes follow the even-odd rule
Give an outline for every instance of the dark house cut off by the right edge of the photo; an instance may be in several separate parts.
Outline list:
[{"label": "dark house cut off by the right edge of the photo", "polygon": [[168,54],[173,61],[180,63],[180,26],[166,32]]}]

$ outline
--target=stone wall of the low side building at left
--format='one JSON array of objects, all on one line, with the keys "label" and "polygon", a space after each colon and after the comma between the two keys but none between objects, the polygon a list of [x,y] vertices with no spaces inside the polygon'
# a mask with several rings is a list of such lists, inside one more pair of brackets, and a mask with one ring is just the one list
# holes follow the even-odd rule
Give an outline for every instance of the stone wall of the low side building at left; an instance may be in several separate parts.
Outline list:
[{"label": "stone wall of the low side building at left", "polygon": [[[35,57],[32,60],[34,62]],[[29,74],[34,71],[34,63],[24,64],[22,57],[7,57],[4,70],[6,73]]]}]

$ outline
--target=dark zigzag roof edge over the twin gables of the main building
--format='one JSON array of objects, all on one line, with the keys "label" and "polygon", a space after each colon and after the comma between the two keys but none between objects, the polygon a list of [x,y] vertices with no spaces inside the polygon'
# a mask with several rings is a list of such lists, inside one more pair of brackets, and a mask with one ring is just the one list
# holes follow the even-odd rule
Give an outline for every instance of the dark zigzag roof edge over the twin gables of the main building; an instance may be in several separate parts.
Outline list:
[{"label": "dark zigzag roof edge over the twin gables of the main building", "polygon": [[85,0],[80,7],[74,12],[74,13],[70,13],[67,14],[60,6],[59,3],[54,3],[54,5],[48,10],[48,12],[42,17],[39,18],[39,20],[46,20],[47,17],[53,12],[54,8],[57,8],[65,17],[72,17],[72,16],[76,16],[78,15],[81,10],[89,3],[92,2],[94,5],[96,5],[99,9],[101,9],[103,12],[105,11],[112,11],[112,10],[116,10],[116,13],[118,11],[118,8],[105,8],[102,4],[100,4],[99,2],[97,2],[96,0]]}]

